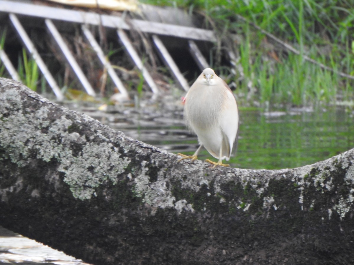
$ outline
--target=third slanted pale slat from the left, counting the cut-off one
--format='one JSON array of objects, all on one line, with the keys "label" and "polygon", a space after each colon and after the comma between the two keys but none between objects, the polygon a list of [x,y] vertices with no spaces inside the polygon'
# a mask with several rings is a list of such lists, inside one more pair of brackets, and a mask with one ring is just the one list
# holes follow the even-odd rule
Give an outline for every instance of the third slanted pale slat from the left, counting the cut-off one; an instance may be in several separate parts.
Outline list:
[{"label": "third slanted pale slat from the left, counting the cut-off one", "polygon": [[82,86],[85,88],[87,94],[91,96],[96,96],[95,91],[93,90],[91,84],[89,83],[89,80],[87,80],[84,72],[82,72],[81,67],[75,60],[73,54],[70,52],[68,46],[64,42],[62,36],[60,35],[59,31],[53,24],[52,20],[50,19],[45,19],[45,24],[50,32],[50,34],[53,36],[53,39],[57,42],[59,48],[61,49],[62,53],[64,54],[64,57],[67,59],[69,65],[72,67],[73,71],[76,74],[76,77],[78,77],[80,83]]}]

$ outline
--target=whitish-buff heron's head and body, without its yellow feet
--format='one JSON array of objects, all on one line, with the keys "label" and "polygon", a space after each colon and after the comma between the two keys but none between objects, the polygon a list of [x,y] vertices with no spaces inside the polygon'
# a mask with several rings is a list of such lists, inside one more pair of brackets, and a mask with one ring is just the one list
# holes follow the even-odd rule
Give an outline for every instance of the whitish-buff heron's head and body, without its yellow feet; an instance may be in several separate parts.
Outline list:
[{"label": "whitish-buff heron's head and body, without its yellow feet", "polygon": [[238,108],[232,91],[212,69],[204,69],[188,90],[184,117],[213,157],[229,160],[238,131]]}]

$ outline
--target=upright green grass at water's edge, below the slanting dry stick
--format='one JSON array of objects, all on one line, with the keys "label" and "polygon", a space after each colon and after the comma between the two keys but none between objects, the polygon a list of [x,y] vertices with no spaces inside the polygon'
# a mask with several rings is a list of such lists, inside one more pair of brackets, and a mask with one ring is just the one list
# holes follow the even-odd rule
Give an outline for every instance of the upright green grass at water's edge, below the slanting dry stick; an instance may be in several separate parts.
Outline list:
[{"label": "upright green grass at water's edge, below the slanting dry stick", "polygon": [[[279,102],[291,102],[295,105],[308,105],[314,101],[335,102],[337,88],[342,85],[337,73],[321,69],[304,60],[302,55],[289,53],[275,61],[256,49],[252,52],[247,30],[245,34],[245,42],[239,47],[243,73],[238,77],[243,79],[238,93],[239,100],[245,101],[244,104],[250,99],[257,99],[267,105]],[[332,67],[337,69],[336,64]]]}]

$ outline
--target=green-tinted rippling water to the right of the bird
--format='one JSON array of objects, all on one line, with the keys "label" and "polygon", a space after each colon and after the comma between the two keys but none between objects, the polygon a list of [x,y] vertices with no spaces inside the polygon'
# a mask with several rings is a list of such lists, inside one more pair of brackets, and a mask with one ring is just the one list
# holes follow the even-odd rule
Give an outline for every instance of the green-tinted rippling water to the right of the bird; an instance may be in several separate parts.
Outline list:
[{"label": "green-tinted rippling water to the right of the bird", "polygon": [[353,113],[344,108],[273,115],[241,112],[233,163],[242,168],[280,169],[313,164],[354,147]]}]

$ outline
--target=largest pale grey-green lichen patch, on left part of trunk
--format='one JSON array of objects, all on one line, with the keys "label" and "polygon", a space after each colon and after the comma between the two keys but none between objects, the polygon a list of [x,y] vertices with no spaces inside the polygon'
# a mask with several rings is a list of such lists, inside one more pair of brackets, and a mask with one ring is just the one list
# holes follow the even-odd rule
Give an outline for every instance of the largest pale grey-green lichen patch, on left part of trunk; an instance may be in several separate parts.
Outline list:
[{"label": "largest pale grey-green lichen patch, on left part of trunk", "polygon": [[[98,131],[80,135],[82,125],[75,116],[69,117],[57,110],[53,119],[51,104],[23,106],[17,89],[1,93],[0,101],[3,102],[0,119],[4,124],[0,131],[0,147],[6,150],[8,158],[19,167],[30,163],[29,158],[33,156],[45,162],[56,160],[58,171],[64,173],[64,182],[75,198],[90,199],[104,181],[115,183],[130,162],[127,157],[122,158],[118,148]],[[92,144],[94,138],[99,138],[101,143]]]}]

